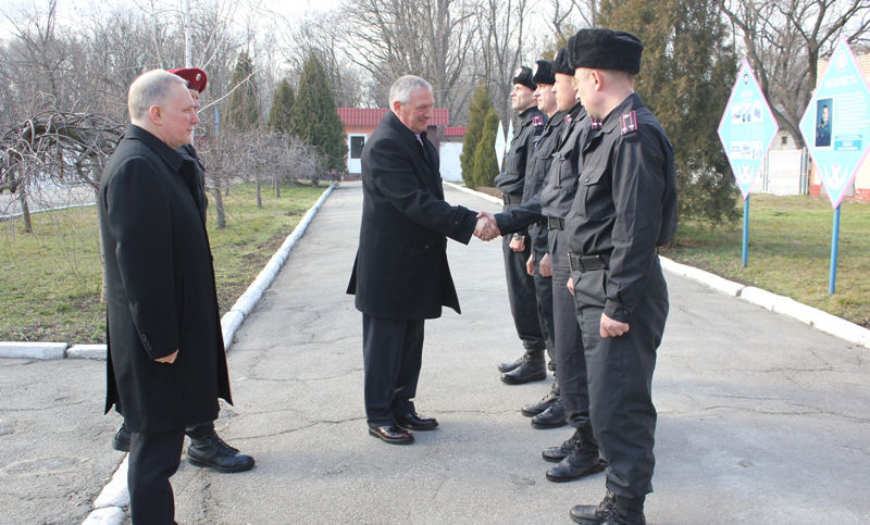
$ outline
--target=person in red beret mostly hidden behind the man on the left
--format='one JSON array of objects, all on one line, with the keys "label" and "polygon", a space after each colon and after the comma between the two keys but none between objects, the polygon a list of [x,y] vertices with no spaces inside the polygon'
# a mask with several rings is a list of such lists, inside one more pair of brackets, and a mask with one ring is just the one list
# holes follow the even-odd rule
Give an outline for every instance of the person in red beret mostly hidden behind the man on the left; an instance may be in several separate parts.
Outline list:
[{"label": "person in red beret mostly hidden behind the man on the left", "polygon": [[[194,110],[199,111],[199,95],[206,89],[208,77],[206,72],[198,67],[186,67],[183,70],[169,70],[185,80],[187,90],[194,99]],[[206,195],[206,168],[199,161],[197,150],[192,143],[187,143],[177,149],[187,159],[194,161],[196,166],[196,180],[190,188],[194,201],[199,209],[202,224],[206,224],[206,209],[208,208],[208,197]],[[208,421],[194,425],[185,429],[185,434],[190,438],[190,446],[187,448],[187,458],[191,465],[209,466],[219,472],[245,472],[253,468],[253,458],[248,454],[239,453],[238,449],[231,447],[214,430],[214,422]],[[122,452],[129,451],[132,435],[124,423],[115,433],[112,439],[112,448]]]}]

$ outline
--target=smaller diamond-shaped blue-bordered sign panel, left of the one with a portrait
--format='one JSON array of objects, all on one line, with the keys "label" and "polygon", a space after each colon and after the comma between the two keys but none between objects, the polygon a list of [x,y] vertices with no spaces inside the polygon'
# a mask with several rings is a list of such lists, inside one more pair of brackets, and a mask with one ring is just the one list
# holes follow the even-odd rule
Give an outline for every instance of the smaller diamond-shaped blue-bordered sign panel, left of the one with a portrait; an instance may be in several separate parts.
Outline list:
[{"label": "smaller diamond-shaped blue-bordered sign panel, left of the one with a portrait", "polygon": [[719,123],[719,139],[725,148],[737,187],[744,200],[749,196],[761,161],[776,135],[776,120],[745,59],[725,114]]}]

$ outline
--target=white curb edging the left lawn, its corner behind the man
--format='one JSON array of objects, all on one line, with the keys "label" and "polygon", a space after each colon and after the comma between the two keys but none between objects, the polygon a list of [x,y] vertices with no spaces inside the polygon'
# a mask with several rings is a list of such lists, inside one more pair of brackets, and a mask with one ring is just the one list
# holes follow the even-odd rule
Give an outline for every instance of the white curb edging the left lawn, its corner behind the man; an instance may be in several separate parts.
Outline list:
[{"label": "white curb edging the left lawn, its corner behind the man", "polygon": [[[323,191],[318,202],[306,212],[299,224],[296,225],[294,230],[284,239],[281,248],[272,255],[266,265],[253,279],[253,282],[245,290],[245,293],[238,298],[233,308],[221,317],[221,329],[224,335],[224,347],[229,350],[233,343],[233,337],[236,330],[241,326],[241,322],[257,305],[257,301],[262,297],[263,291],[269,288],[272,280],[278,274],[281,266],[287,260],[287,257],[296,246],[296,242],[306,233],[311,220],[323,205],[323,201],[332,193],[336,184],[333,183]],[[94,204],[90,204],[94,205]],[[71,207],[73,208],[73,207]],[[18,359],[105,359],[105,345],[73,345],[69,348],[66,342],[15,342],[15,341],[0,341],[0,358],[18,358]]]}]

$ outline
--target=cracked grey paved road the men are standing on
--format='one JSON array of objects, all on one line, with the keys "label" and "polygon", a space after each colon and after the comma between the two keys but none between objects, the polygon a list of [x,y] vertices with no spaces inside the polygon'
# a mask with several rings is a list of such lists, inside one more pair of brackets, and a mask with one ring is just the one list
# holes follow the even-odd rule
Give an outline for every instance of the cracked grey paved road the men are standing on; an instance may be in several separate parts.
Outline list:
[{"label": "cracked grey paved road the men are standing on", "polygon": [[[451,189],[447,199],[496,208]],[[173,478],[179,523],[569,523],[572,504],[601,498],[604,475],[547,482],[540,450],[570,433],[535,430],[518,409],[549,384],[498,380],[495,364],[520,352],[498,243],[449,243],[464,313],[426,324],[418,397],[440,427],[410,447],[366,434],[360,314],[344,293],[360,207],[358,183],[336,188],[237,333],[236,407],[217,427],[258,466],[227,475],[183,461]],[[870,521],[868,350],[668,282],[648,521]],[[80,521],[121,460],[109,447],[117,420],[100,415],[103,364],[0,366],[0,509],[11,511],[0,522]]]}]

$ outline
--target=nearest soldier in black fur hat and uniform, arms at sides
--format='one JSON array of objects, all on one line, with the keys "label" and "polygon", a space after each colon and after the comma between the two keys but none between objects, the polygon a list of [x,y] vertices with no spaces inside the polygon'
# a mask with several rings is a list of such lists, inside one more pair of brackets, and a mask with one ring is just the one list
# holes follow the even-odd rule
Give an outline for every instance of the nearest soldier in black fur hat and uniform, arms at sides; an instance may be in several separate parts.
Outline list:
[{"label": "nearest soldier in black fur hat and uniform, arms at sides", "polygon": [[652,372],[669,308],[657,247],[676,229],[673,149],[634,92],[643,52],[636,36],[582,29],[569,51],[580,99],[601,120],[582,148],[566,236],[589,415],[609,462],[604,500],[574,507],[571,517],[644,524],[655,466]]}]

